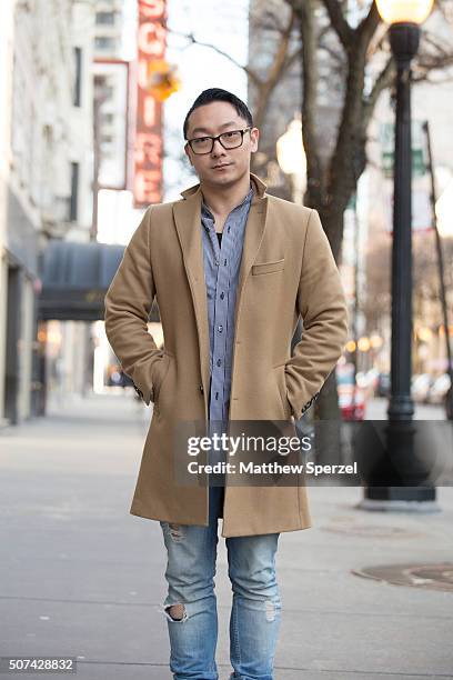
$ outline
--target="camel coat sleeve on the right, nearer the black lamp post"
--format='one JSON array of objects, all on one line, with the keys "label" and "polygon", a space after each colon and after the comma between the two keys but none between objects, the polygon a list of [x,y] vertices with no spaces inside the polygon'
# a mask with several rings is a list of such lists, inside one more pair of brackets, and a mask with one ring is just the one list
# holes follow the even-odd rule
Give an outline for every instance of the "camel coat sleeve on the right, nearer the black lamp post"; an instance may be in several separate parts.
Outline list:
[{"label": "camel coat sleeve on the right, nearer the black lamp post", "polygon": [[320,393],[348,339],[348,307],[332,250],[316,210],[306,226],[298,290],[302,339],[285,364],[286,393],[299,420]]}]

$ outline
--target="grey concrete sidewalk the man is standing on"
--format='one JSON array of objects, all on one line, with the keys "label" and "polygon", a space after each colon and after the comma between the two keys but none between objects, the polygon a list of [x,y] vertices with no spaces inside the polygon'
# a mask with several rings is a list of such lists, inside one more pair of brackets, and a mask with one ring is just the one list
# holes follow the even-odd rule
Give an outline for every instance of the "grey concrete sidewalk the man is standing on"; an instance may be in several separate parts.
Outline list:
[{"label": "grey concrete sidewalk the man is standing on", "polygon": [[[91,397],[0,431],[0,656],[77,657],[83,680],[171,680],[160,527],[129,514],[150,414],[132,398]],[[442,512],[419,516],[358,510],[358,488],[309,494],[313,527],[280,538],[275,680],[453,678],[453,591],[352,573],[452,562],[453,488],[437,490]],[[226,567],[220,538],[221,680]]]}]

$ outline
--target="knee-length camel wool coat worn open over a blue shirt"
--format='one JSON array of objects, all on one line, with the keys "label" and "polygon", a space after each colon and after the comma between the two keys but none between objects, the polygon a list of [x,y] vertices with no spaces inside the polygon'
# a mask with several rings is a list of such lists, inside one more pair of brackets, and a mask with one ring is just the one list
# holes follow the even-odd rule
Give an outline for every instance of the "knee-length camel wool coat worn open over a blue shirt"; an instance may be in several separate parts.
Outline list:
[{"label": "knee-length camel wool coat worn open over a blue shirt", "polygon": [[[254,197],[235,301],[229,419],[294,423],[343,350],[345,297],[318,212],[266,194],[250,177]],[[130,513],[208,526],[209,487],[178,486],[171,456],[178,421],[209,418],[201,186],[181,196],[145,211],[105,296],[105,332],[137,391],[154,404]],[[148,332],[154,297],[164,349]],[[291,356],[300,316],[303,334]],[[305,486],[229,486],[226,476],[222,537],[310,526]]]}]

